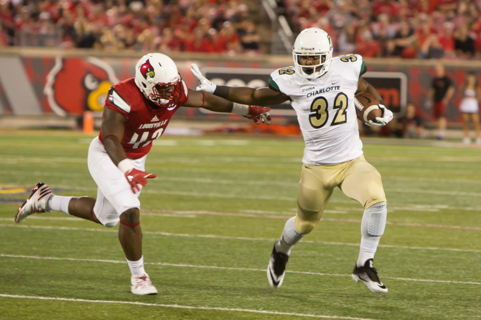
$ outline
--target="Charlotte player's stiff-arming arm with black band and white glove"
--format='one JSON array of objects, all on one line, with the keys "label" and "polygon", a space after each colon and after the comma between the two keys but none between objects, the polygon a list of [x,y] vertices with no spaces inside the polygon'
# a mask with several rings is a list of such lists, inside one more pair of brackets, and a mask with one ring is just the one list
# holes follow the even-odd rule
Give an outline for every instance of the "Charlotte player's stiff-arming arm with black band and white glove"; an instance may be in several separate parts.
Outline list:
[{"label": "Charlotte player's stiff-arming arm with black band and white glove", "polygon": [[195,63],[191,64],[190,71],[200,82],[195,88],[197,91],[202,90],[212,93],[229,101],[243,104],[270,105],[289,100],[289,96],[268,87],[254,89],[250,87],[216,85],[200,72]]}]

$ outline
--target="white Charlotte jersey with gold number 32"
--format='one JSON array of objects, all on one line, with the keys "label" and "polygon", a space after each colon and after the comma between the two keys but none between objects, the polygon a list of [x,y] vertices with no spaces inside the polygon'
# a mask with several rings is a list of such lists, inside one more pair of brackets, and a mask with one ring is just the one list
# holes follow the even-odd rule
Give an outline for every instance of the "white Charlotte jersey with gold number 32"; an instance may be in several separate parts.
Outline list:
[{"label": "white Charlotte jersey with gold number 32", "polygon": [[305,79],[294,67],[271,73],[270,87],[291,98],[306,147],[302,161],[332,165],[359,157],[359,138],[354,93],[365,72],[359,54],[337,56],[329,70],[317,79]]}]

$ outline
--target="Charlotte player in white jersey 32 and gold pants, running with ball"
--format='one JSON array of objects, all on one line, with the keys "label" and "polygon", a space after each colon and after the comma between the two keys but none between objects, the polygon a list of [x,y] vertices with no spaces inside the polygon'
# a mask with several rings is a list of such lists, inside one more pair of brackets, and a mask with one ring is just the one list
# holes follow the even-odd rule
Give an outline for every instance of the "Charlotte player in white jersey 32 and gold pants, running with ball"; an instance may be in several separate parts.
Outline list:
[{"label": "Charlotte player in white jersey 32 and gold pants, running with ball", "polygon": [[327,32],[304,29],[293,46],[294,66],[271,73],[269,87],[228,87],[205,78],[197,65],[191,71],[203,90],[245,104],[269,105],[290,100],[296,110],[306,147],[298,186],[298,211],[276,241],[267,269],[269,283],[281,286],[291,248],[311,232],[335,187],[364,207],[360,252],[352,278],[364,282],[373,292],[387,292],[373,267],[374,253],[386,224],[386,197],[381,175],[363,156],[354,95],[369,92],[381,104],[382,116],[368,125],[382,126],[392,112],[376,89],[363,79],[362,56],[332,57],[333,44]]}]

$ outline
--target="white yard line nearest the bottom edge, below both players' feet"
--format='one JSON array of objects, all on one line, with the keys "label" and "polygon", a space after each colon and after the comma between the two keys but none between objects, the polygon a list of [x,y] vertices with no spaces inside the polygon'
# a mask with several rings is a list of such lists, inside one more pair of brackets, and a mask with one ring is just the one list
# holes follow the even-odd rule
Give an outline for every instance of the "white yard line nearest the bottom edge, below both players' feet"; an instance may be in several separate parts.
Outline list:
[{"label": "white yard line nearest the bottom edge, below both players' feet", "polygon": [[372,318],[359,318],[359,317],[341,316],[341,315],[324,315],[324,314],[281,312],[281,311],[256,310],[256,309],[224,308],[224,307],[217,307],[217,306],[202,306],[202,305],[196,306],[196,305],[180,305],[180,304],[146,303],[146,302],[136,302],[136,301],[90,300],[90,299],[65,298],[65,297],[58,297],[58,296],[17,295],[17,294],[0,293],[0,297],[22,298],[22,299],[39,299],[39,300],[75,301],[75,302],[90,302],[90,303],[132,304],[132,305],[158,306],[158,307],[164,307],[164,308],[177,308],[177,309],[237,311],[237,312],[251,312],[251,313],[263,313],[263,314],[306,316],[306,317],[313,317],[313,318],[328,318],[328,319],[334,318],[334,319],[346,319],[346,320],[376,320],[376,319],[372,319]]}]

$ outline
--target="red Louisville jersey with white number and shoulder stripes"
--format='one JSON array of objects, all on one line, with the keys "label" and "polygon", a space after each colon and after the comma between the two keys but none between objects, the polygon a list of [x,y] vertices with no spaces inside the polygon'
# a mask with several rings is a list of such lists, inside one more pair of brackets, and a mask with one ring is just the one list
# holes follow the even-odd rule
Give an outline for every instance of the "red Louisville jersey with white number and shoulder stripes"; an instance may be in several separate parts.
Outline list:
[{"label": "red Louisville jersey with white number and shoulder stripes", "polygon": [[[147,154],[152,147],[152,140],[164,133],[174,112],[187,101],[188,89],[184,81],[182,85],[184,94],[180,97],[179,103],[171,107],[157,106],[145,98],[135,84],[134,78],[123,80],[110,88],[105,99],[105,107],[127,118],[121,143],[128,158],[138,159]],[[99,139],[104,142],[102,129]]]}]

